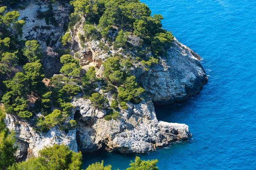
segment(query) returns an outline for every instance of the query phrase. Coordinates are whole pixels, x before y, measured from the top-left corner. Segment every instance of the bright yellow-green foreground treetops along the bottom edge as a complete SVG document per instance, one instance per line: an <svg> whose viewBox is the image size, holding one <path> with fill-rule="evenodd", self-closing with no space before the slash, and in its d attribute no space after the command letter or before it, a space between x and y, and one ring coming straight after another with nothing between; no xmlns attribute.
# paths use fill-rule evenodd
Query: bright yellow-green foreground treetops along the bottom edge
<svg viewBox="0 0 256 170"><path fill-rule="evenodd" d="M13 146L13 144L12 144ZM13 147L15 150L15 147ZM1 153L1 151L0 151ZM1 167L9 167L9 170L81 170L82 154L71 151L63 144L55 144L52 147L45 147L39 151L38 157L32 157L27 161L14 163L14 155L10 155L13 162L8 160L7 164L0 164ZM3 159L1 159L1 162ZM135 161L131 161L130 167L126 170L158 170L156 160L143 161L136 156ZM85 170L112 170L111 165L104 166L104 162L90 164Z"/></svg>

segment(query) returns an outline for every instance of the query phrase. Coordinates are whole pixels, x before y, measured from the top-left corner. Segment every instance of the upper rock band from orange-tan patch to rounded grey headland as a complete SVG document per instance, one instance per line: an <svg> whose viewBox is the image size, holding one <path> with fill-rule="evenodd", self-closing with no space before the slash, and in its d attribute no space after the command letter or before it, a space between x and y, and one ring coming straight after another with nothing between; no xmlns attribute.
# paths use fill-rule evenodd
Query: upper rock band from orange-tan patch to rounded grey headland
<svg viewBox="0 0 256 170"><path fill-rule="evenodd" d="M104 51L99 48L99 41L94 40L81 45L79 34L84 34L83 22L75 26L72 42L72 44L76 44L76 47L72 46L72 49L78 52L83 69L87 70L90 66L94 66L96 67L97 76L102 77L104 70L102 62L106 61L110 54L119 54L126 59L132 59L133 65L130 73L137 77L137 81L157 105L184 101L189 96L198 94L208 80L200 62L201 57L176 38L172 41L167 54L158 56L158 64L145 70L143 64L136 60L136 50L129 51L129 49L125 49L125 52L120 52L120 50ZM136 49L140 38L130 36L128 42ZM105 45L109 46L107 43ZM152 53L146 55L147 57L153 57Z"/></svg>

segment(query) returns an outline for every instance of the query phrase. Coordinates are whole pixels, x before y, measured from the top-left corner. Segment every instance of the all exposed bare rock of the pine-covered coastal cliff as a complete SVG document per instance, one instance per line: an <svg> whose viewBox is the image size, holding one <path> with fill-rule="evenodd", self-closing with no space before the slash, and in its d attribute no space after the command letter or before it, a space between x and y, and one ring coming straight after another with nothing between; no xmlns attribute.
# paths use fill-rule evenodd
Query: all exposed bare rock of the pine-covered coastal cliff
<svg viewBox="0 0 256 170"><path fill-rule="evenodd" d="M39 3L39 4L38 4ZM20 18L28 17L24 26L24 39L35 39L40 42L43 51L47 48L46 39L52 36L52 42L56 42L53 48L59 46L58 39L64 34L63 26L67 24L67 16L70 13L68 4L53 5L54 17L58 26L51 29L35 29L48 26L45 19L38 19L37 10L47 11L49 4L46 2L32 1L25 10L20 11ZM97 77L102 77L104 67L102 63L110 54L120 54L120 50L104 51L99 48L99 41L87 41L81 45L79 33L83 31L84 19L74 27L70 49L80 59L80 65L84 70L90 66L96 68ZM54 32L54 35L51 35ZM43 37L41 37L43 36ZM128 42L136 47L140 39L129 37ZM110 48L107 42L105 46ZM44 146L53 144L69 145L74 151L93 152L104 148L109 151L120 153L146 153L156 147L164 147L177 140L187 140L192 134L185 124L168 123L158 121L154 112L153 102L159 105L170 104L187 99L189 96L200 92L207 82L207 76L200 63L200 57L176 39L172 42L167 55L159 57L157 65L152 65L148 70L143 68L140 61L136 61L137 51L122 52L125 59L133 57L130 73L137 77L137 81L145 89L144 100L139 104L128 103L128 109L120 109L120 117L116 120L107 121L103 117L107 110L96 109L89 100L76 97L72 104L75 109L70 119L75 119L79 127L68 133L58 127L52 128L48 133L37 133L25 121L17 116L7 115L6 126L14 130L19 150L17 160L23 160L29 156L37 156L38 151ZM151 53L147 54L152 57ZM58 73L61 67L58 58L47 57L44 54L44 71L48 76ZM112 96L104 94L109 101Z"/></svg>

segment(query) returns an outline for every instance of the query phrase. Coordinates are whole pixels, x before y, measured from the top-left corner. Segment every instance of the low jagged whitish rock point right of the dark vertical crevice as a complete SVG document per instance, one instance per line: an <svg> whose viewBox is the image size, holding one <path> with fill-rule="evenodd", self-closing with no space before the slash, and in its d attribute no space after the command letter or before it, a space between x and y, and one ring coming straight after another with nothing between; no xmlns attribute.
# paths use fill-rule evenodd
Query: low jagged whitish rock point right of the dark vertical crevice
<svg viewBox="0 0 256 170"><path fill-rule="evenodd" d="M104 120L105 111L95 109L89 100L74 99L75 119L79 124L78 147L82 152L104 148L120 153L146 153L192 134L185 124L158 122L150 100L129 103L116 120Z"/></svg>

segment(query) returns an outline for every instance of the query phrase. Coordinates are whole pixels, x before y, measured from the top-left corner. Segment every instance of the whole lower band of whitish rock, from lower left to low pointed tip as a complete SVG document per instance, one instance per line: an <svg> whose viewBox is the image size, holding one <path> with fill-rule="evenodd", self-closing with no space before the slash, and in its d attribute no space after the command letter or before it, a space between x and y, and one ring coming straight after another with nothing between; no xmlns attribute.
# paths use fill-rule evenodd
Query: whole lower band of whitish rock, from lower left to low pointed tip
<svg viewBox="0 0 256 170"><path fill-rule="evenodd" d="M158 121L150 100L128 104L128 109L122 111L118 119L110 121L103 119L106 111L94 108L88 99L74 98L72 104L75 109L71 117L79 127L68 133L58 127L46 134L38 133L17 116L6 115L6 126L15 131L18 161L38 156L39 150L53 144L65 144L76 152L103 148L120 153L146 153L192 136L185 124Z"/></svg>

